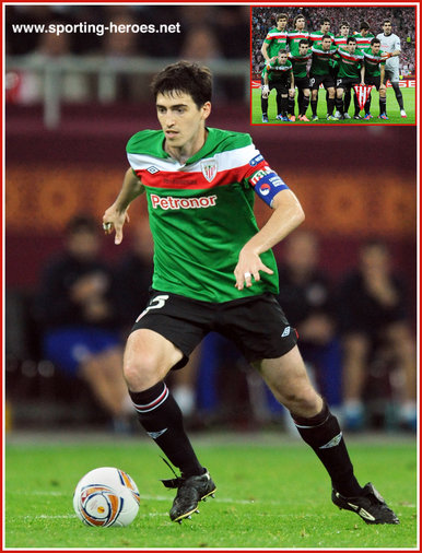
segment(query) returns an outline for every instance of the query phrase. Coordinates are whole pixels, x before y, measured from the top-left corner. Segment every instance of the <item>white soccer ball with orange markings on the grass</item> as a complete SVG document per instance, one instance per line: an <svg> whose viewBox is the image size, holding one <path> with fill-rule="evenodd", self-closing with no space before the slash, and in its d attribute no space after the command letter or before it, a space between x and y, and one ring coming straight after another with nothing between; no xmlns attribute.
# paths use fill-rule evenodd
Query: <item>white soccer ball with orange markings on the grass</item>
<svg viewBox="0 0 422 553"><path fill-rule="evenodd" d="M87 526L128 526L138 514L139 499L137 484L129 474L102 467L78 482L73 508Z"/></svg>

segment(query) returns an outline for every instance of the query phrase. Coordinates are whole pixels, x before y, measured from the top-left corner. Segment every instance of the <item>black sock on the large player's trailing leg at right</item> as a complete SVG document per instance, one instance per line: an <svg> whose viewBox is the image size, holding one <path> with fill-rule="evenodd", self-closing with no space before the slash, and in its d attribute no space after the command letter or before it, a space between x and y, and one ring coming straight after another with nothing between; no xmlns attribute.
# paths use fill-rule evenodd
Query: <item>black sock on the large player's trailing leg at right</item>
<svg viewBox="0 0 422 553"><path fill-rule="evenodd" d="M327 404L312 419L291 414L303 440L314 449L330 475L332 487L345 497L360 495L362 487L353 474L339 423Z"/></svg>

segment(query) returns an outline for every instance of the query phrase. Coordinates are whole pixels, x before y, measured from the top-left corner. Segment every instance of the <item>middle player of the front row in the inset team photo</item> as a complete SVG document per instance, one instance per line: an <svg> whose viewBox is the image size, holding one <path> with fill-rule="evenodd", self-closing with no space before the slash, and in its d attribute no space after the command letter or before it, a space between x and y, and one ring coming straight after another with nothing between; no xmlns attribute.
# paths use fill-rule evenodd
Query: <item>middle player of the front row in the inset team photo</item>
<svg viewBox="0 0 422 553"><path fill-rule="evenodd" d="M335 80L332 79L330 67L332 56L337 52L336 46L332 46L332 39L329 35L324 35L318 46L312 47L312 64L309 72L309 84L312 87L310 107L312 120L317 121L317 106L318 106L318 92L319 85L328 92L327 99L327 119L333 120L332 111L335 109Z"/></svg>

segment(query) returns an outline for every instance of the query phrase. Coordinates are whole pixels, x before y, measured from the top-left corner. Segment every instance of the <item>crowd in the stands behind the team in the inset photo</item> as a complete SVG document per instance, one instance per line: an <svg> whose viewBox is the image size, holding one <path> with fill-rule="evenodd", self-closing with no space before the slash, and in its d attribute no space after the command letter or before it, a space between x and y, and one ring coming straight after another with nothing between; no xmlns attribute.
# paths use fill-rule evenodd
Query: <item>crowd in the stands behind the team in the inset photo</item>
<svg viewBox="0 0 422 553"><path fill-rule="evenodd" d="M295 15L303 14L306 20L306 30L319 31L320 22L328 17L331 22L331 33L340 34L340 23L348 21L351 33L360 33L360 24L366 21L370 24L370 33L375 36L383 32L383 21L390 19L392 33L401 39L400 69L402 74L414 74L415 70L415 11L414 8L402 7L339 7L339 8L253 8L253 71L262 69L263 56L260 52L262 42L270 28L276 26L276 15L279 12L288 13L288 30L292 27Z"/></svg>

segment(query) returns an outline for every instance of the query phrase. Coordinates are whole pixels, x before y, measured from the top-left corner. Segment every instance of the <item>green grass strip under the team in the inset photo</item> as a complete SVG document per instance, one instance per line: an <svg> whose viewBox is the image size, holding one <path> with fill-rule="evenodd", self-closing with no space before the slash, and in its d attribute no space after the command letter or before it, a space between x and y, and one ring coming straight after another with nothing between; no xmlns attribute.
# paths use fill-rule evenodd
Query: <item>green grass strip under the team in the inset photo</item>
<svg viewBox="0 0 422 553"><path fill-rule="evenodd" d="M379 115L379 103L378 103L378 93L372 93L372 104L371 104L371 113L374 116L373 119L365 120L356 120L356 119L344 119L339 121L327 121L327 102L326 102L326 91L319 90L318 92L318 121L309 121L303 122L296 120L295 122L283 122L278 121L276 119L277 116L277 105L276 105L276 91L271 91L268 102L268 123L262 123L262 111L261 111L261 93L260 89L253 89L253 102L251 102L251 122L260 123L260 125L300 125L302 127L307 125L414 125L415 122L415 89L401 89L401 93L403 95L405 109L407 113L407 118L403 119L400 116L399 105L397 104L397 99L395 96L395 92L392 89L387 89L387 114L389 119L386 121L384 119L378 119ZM349 114L353 117L354 114L354 105L353 105L353 93L352 93L352 102L349 108ZM296 105L295 105L295 115L297 116L297 90L296 90ZM361 115L364 115L364 111L361 111ZM306 116L310 119L312 109L310 104L306 111Z"/></svg>

